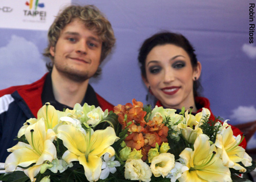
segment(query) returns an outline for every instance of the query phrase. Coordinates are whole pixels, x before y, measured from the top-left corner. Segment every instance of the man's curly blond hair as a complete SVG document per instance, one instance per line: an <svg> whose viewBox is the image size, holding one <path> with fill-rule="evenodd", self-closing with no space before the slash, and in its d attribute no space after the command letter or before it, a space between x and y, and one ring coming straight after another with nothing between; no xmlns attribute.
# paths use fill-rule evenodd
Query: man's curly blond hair
<svg viewBox="0 0 256 182"><path fill-rule="evenodd" d="M84 25L89 29L93 30L102 41L100 63L108 56L115 44L115 36L112 26L106 17L93 5L87 6L75 6L71 5L63 9L56 16L53 24L48 31L48 47L45 49L44 56L51 59L50 63L47 63L47 69L52 70L54 64L54 57L50 54L50 48L55 47L60 32L66 27L74 18L79 18ZM98 67L97 72L94 76L99 75L101 72Z"/></svg>

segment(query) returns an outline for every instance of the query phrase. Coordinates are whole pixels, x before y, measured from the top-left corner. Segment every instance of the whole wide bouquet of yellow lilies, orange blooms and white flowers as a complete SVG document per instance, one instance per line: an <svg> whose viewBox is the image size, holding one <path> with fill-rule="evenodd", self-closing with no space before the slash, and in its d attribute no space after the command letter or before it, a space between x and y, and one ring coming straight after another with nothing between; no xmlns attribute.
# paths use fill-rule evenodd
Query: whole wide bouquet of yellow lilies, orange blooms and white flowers
<svg viewBox="0 0 256 182"><path fill-rule="evenodd" d="M20 128L0 180L250 181L239 175L256 166L239 146L244 136L233 137L227 121L212 118L206 108L194 116L135 99L114 113L45 105Z"/></svg>

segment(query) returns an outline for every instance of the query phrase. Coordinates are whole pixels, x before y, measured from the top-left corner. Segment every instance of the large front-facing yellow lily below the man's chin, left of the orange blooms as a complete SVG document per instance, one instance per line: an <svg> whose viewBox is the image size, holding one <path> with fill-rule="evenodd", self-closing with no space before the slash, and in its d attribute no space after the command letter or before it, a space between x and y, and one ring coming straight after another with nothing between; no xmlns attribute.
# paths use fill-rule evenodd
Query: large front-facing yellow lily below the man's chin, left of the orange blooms
<svg viewBox="0 0 256 182"><path fill-rule="evenodd" d="M99 179L101 173L101 156L109 153L110 157L115 154L111 145L119 139L112 127L104 130L90 130L88 133L81 132L72 125L61 125L57 129L57 136L63 141L68 150L62 155L68 164L79 161L84 168L84 174L89 181Z"/></svg>

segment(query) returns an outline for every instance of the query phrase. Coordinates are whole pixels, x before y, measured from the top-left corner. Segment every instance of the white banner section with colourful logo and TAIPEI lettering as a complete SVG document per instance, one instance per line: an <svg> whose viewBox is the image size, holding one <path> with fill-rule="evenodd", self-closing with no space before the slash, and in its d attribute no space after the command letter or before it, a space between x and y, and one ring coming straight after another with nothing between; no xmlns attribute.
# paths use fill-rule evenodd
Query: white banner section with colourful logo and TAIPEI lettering
<svg viewBox="0 0 256 182"><path fill-rule="evenodd" d="M48 30L71 0L1 0L0 28Z"/></svg>

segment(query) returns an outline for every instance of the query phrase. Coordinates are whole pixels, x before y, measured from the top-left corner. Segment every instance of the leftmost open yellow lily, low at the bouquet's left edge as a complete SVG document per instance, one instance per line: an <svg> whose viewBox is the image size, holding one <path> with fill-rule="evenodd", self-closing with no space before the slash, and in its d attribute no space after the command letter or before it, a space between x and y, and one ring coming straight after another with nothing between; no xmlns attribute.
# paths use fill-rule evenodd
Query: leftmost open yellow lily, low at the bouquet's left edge
<svg viewBox="0 0 256 182"><path fill-rule="evenodd" d="M35 163L24 171L31 181L35 181L34 176L38 174L42 164L45 161L52 162L57 157L56 148L52 143L56 135L52 129L46 132L45 122L40 119L27 127L25 137L29 144L18 142L8 149L12 153L6 158L5 170L12 172L17 166L28 167Z"/></svg>

